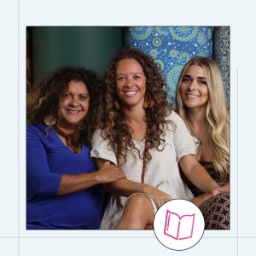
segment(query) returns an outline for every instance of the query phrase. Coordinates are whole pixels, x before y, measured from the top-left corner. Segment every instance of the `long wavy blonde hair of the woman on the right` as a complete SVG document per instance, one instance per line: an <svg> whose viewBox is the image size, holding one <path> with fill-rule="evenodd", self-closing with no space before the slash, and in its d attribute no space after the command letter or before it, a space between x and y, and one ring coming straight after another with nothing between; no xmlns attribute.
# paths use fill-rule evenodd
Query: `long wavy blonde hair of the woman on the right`
<svg viewBox="0 0 256 256"><path fill-rule="evenodd" d="M202 152L206 150L210 152L213 166L224 178L230 173L230 122L229 113L225 107L223 80L215 61L207 57L195 57L183 67L177 84L177 113L183 118L191 134L196 137L195 130L189 120L189 109L183 104L179 92L183 75L191 65L197 65L203 69L209 91L204 138L206 143L202 143L197 148L197 157L200 160Z"/></svg>

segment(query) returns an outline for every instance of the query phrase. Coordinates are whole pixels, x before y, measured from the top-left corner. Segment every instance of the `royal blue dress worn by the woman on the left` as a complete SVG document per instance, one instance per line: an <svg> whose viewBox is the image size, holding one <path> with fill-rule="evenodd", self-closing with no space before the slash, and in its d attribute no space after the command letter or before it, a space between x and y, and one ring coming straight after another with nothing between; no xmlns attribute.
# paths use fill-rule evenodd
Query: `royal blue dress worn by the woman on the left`
<svg viewBox="0 0 256 256"><path fill-rule="evenodd" d="M102 185L69 195L57 195L62 174L95 172L90 148L75 154L53 128L27 125L26 223L27 229L98 229L102 220Z"/></svg>

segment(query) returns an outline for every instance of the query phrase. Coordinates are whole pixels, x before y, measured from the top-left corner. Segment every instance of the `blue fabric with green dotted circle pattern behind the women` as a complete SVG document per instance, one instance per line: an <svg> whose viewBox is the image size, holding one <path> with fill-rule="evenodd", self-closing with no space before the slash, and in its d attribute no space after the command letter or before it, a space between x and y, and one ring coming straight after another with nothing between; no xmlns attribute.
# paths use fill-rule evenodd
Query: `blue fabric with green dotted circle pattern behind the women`
<svg viewBox="0 0 256 256"><path fill-rule="evenodd" d="M166 78L168 101L175 105L177 80L191 58L212 58L211 26L129 26L125 45L151 55Z"/></svg>

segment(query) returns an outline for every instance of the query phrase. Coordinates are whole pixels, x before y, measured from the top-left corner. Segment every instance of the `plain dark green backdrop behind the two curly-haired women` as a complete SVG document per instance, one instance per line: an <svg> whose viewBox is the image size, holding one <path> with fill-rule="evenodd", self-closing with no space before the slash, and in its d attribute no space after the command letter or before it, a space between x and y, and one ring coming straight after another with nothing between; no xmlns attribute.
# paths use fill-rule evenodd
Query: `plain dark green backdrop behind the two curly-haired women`
<svg viewBox="0 0 256 256"><path fill-rule="evenodd" d="M102 77L123 45L121 26L33 26L32 84L63 66L85 67Z"/></svg>

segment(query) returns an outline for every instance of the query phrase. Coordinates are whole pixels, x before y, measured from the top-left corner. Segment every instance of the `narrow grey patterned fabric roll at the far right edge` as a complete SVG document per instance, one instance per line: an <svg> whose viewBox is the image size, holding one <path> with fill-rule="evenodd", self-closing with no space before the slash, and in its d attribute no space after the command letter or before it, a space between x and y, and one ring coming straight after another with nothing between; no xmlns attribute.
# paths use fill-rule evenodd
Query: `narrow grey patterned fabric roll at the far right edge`
<svg viewBox="0 0 256 256"><path fill-rule="evenodd" d="M226 106L230 107L230 26L215 26L213 59L218 63L224 81Z"/></svg>

